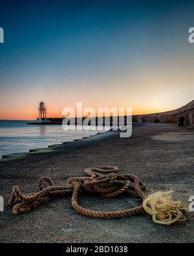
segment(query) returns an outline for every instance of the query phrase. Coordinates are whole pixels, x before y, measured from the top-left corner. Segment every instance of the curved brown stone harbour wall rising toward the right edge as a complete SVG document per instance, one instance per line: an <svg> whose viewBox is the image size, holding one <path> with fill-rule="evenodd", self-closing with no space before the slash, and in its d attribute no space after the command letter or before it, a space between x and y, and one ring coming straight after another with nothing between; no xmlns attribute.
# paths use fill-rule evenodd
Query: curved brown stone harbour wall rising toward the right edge
<svg viewBox="0 0 194 256"><path fill-rule="evenodd" d="M134 122L169 122L180 126L194 126L194 100L177 110L154 113L149 115L134 115Z"/></svg>

